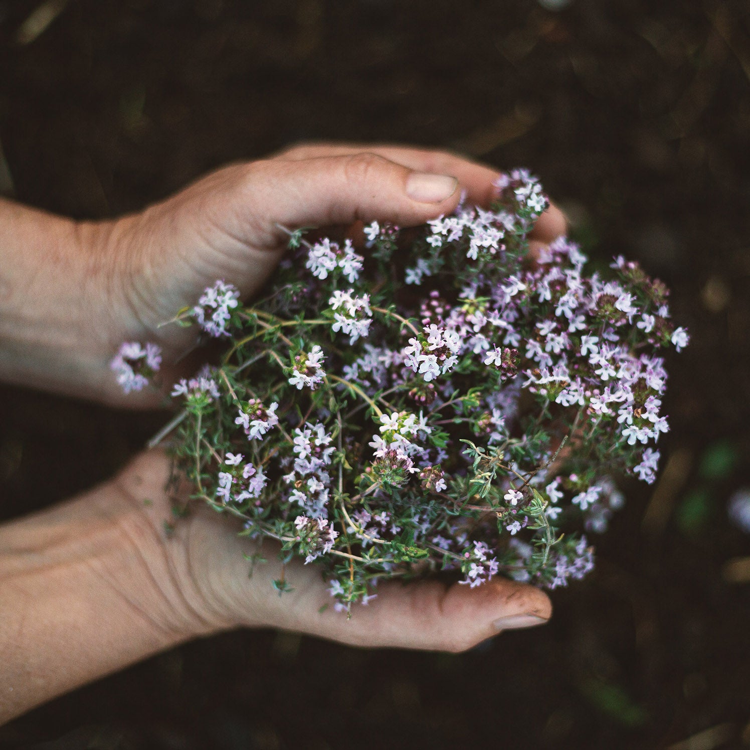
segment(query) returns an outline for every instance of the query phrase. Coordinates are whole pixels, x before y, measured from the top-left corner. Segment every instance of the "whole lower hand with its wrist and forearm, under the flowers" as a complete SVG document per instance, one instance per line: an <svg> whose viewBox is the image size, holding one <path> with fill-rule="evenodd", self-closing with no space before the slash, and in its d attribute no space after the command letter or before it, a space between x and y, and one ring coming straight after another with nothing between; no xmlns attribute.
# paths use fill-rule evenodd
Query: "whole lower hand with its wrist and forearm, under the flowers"
<svg viewBox="0 0 750 750"><path fill-rule="evenodd" d="M78 498L0 526L0 724L45 700L190 638L242 625L356 646L463 651L550 617L547 596L504 579L475 589L383 582L351 619L299 559L279 596L278 546L248 577L256 544L205 505L172 521L169 459L138 456Z"/></svg>

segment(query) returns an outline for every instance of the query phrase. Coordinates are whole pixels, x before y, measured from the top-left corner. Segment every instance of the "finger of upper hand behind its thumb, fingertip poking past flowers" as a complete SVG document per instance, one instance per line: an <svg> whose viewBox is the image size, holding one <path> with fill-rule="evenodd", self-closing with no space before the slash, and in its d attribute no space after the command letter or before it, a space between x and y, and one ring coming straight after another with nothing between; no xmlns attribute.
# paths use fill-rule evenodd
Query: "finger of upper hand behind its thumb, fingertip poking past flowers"
<svg viewBox="0 0 750 750"><path fill-rule="evenodd" d="M410 169L425 172L452 174L458 178L462 189L466 190L469 203L488 208L496 197L495 180L499 171L487 164L471 161L458 154L431 149L416 149L410 146L374 145L358 143L306 143L293 146L275 158L300 161L322 156L342 156L370 152L403 164ZM550 207L538 218L530 236L541 242L552 242L565 234L567 221L562 211L550 203Z"/></svg>

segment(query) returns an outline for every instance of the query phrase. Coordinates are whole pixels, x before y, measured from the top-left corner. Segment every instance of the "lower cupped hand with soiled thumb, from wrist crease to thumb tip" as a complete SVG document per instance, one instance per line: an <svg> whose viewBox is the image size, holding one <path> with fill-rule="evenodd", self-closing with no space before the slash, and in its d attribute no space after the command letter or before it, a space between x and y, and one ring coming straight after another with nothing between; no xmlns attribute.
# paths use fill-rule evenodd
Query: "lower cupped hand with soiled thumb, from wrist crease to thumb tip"
<svg viewBox="0 0 750 750"><path fill-rule="evenodd" d="M282 570L278 545L259 546L239 537L240 527L231 518L207 506L191 505L187 517L165 536L163 523L172 517L164 490L168 478L169 459L154 450L138 456L115 480L136 509L139 528L131 525L127 539L139 546L148 568L145 578L157 586L157 598L149 601L160 606L149 604L148 609L165 630L194 636L243 625L273 627L356 646L458 652L500 631L541 625L550 617L544 592L496 578L474 589L436 580L383 582L377 597L366 606L354 605L347 619L334 610L320 568L293 559ZM267 562L257 562L248 576L245 556L259 552ZM293 591L279 595L272 581L282 576Z"/></svg>

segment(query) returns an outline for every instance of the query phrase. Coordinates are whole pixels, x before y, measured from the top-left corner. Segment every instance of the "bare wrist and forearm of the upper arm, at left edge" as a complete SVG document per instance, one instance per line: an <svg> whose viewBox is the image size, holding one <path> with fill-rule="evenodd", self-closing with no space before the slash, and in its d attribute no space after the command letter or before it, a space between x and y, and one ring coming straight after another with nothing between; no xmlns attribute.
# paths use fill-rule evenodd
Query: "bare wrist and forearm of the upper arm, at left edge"
<svg viewBox="0 0 750 750"><path fill-rule="evenodd" d="M0 377L91 393L105 359L107 315L97 225L5 200L0 218Z"/></svg>

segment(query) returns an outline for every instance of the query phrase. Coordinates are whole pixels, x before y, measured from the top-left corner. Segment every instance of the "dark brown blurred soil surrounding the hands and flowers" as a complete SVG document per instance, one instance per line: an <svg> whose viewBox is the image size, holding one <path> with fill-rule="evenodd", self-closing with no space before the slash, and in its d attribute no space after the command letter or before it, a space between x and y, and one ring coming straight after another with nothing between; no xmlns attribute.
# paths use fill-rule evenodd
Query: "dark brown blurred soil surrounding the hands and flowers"
<svg viewBox="0 0 750 750"><path fill-rule="evenodd" d="M304 139L526 165L600 258L673 290L653 487L554 592L463 655L271 631L190 643L0 729L24 748L750 746L750 6L684 0L0 0L0 191L139 209ZM0 389L0 516L112 474L162 423Z"/></svg>

